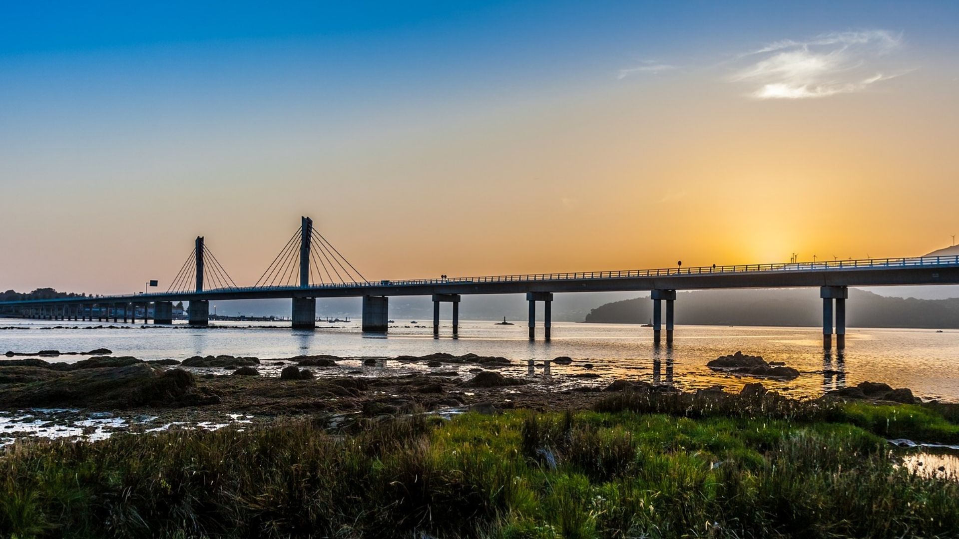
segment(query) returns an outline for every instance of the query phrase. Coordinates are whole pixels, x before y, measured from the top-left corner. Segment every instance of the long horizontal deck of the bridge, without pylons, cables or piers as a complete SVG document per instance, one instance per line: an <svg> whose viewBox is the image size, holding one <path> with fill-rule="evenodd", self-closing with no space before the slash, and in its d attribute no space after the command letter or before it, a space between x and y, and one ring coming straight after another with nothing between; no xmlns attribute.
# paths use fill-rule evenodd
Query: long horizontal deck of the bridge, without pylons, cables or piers
<svg viewBox="0 0 959 539"><path fill-rule="evenodd" d="M277 297L429 295L433 293L628 292L947 284L959 284L959 256L383 280L309 287L229 287L202 292L135 293L2 301L0 306Z"/></svg>

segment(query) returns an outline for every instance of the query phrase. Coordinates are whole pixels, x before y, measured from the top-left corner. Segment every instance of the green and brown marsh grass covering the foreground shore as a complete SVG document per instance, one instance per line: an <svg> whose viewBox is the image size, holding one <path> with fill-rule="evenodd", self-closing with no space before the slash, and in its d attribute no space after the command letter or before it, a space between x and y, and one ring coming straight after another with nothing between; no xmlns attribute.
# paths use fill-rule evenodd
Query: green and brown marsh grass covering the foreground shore
<svg viewBox="0 0 959 539"><path fill-rule="evenodd" d="M951 439L935 410L775 406L20 443L0 454L0 536L956 536L959 483L894 466L881 437Z"/></svg>

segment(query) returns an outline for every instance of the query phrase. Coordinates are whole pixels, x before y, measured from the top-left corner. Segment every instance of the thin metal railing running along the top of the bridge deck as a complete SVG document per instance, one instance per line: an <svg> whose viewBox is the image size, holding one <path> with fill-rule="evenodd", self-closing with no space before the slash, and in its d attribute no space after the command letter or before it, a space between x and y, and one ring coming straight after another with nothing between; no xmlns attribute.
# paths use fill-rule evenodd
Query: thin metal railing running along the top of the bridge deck
<svg viewBox="0 0 959 539"><path fill-rule="evenodd" d="M890 268L915 268L915 267L957 267L959 266L959 255L955 256L926 256L910 258L870 258L862 260L832 260L823 262L790 262L777 264L737 264L732 266L697 266L692 268L658 268L658 269L620 269L612 271L571 271L562 273L520 273L513 275L485 275L476 277L447 277L436 279L405 279L399 281L365 281L348 283L331 283L311 285L307 287L310 290L327 289L350 289L350 288L388 288L388 287L407 287L424 285L456 285L456 284L482 284L482 283L510 283L510 282L542 282L542 281L569 281L583 279L624 279L624 278L642 278L642 277L682 277L696 276L704 274L742 274L758 273L769 271L798 272L798 271L838 271L850 269L890 269ZM208 289L202 293L211 292L244 292L244 291L290 291L302 290L299 286L273 286L273 287L231 287ZM177 297L189 296L195 293L178 293ZM170 295L167 293L144 293L131 296L129 294L99 295L87 296L83 299L96 301L97 299L109 299L111 297L130 298L129 301L136 301L136 298L150 299L154 296ZM62 300L76 300L73 298L58 298ZM39 302L40 300L35 300ZM57 301L53 299L50 301Z"/></svg>

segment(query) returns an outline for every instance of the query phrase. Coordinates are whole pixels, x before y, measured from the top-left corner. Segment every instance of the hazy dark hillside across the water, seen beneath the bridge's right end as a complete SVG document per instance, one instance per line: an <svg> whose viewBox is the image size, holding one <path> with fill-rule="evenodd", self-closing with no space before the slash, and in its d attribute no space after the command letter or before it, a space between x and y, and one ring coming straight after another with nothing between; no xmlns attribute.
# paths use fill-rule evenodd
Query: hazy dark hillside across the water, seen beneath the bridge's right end
<svg viewBox="0 0 959 539"><path fill-rule="evenodd" d="M587 315L585 321L646 323L650 317L652 300L637 297L601 305ZM820 326L823 323L823 303L819 298L819 290L814 288L678 293L676 323ZM846 301L846 325L959 328L959 298L903 299L850 289L850 298Z"/></svg>

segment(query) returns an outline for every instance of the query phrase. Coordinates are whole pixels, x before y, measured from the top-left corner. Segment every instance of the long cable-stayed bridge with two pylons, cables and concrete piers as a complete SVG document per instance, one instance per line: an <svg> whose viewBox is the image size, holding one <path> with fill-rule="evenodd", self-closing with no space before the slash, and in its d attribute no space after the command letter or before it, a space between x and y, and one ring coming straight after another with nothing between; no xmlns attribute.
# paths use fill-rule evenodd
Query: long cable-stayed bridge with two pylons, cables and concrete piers
<svg viewBox="0 0 959 539"><path fill-rule="evenodd" d="M324 276L325 275L325 276ZM317 297L360 297L363 332L386 333L390 296L430 295L433 336L439 337L441 303L453 308L453 336L459 331L463 295L525 293L529 303L529 339L535 338L536 302L544 303L544 337L550 340L553 293L648 291L653 301L653 341L659 344L666 302L666 341L673 340L676 291L707 289L771 289L818 287L823 299L823 347L845 348L846 299L849 287L959 284L959 256L881 258L787 264L746 264L694 268L623 269L565 273L529 273L477 277L442 277L370 281L363 277L313 226L301 218L299 229L253 286L239 287L229 277L204 239L194 249L163 293L72 296L0 301L8 316L40 319L135 321L138 307L144 322L173 323L173 303L189 303L188 321L209 322L209 302L229 299L292 299L292 327L316 327Z"/></svg>

